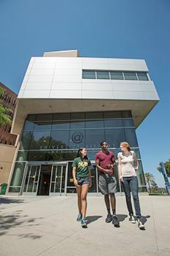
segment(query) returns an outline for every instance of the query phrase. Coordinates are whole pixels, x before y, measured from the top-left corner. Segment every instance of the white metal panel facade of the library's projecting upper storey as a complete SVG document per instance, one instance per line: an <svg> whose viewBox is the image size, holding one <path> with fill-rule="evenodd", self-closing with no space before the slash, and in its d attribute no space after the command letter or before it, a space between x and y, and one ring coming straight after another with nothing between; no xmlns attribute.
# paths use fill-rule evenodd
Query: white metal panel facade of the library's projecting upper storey
<svg viewBox="0 0 170 256"><path fill-rule="evenodd" d="M139 59L33 57L18 99L159 100L151 80L82 79L82 70L148 72Z"/></svg>

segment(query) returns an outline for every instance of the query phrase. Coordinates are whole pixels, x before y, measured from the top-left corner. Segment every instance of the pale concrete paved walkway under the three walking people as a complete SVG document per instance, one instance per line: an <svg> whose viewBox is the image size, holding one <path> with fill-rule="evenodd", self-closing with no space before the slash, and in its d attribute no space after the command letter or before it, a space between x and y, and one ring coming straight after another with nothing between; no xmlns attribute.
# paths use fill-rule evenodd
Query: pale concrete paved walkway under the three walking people
<svg viewBox="0 0 170 256"><path fill-rule="evenodd" d="M117 197L120 227L106 223L104 197L88 196L88 228L77 218L77 197L0 197L0 255L170 255L170 197L140 196L145 230L128 221Z"/></svg>

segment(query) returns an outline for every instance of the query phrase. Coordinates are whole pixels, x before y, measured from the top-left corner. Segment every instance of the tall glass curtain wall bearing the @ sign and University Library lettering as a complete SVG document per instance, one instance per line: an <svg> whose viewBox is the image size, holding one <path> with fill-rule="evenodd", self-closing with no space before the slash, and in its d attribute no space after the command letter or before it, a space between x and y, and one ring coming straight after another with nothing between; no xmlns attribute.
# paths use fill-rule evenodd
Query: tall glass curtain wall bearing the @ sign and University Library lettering
<svg viewBox="0 0 170 256"><path fill-rule="evenodd" d="M73 161L80 147L87 148L88 157L94 160L102 140L107 141L115 159L120 142L128 141L139 160L139 191L146 191L131 111L109 111L28 115L9 192L20 192L26 162Z"/></svg>

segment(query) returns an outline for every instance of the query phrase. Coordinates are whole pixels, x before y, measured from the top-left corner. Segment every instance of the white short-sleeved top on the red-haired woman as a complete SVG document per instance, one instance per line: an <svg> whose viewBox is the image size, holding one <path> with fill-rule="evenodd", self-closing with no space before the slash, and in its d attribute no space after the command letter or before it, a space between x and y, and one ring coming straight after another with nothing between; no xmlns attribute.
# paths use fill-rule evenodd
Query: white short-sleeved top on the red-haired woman
<svg viewBox="0 0 170 256"><path fill-rule="evenodd" d="M117 154L117 158L120 157L121 159L123 177L136 176L136 171L134 170L134 157L136 157L136 154L134 151L129 151L129 153L128 157L125 157L123 152Z"/></svg>

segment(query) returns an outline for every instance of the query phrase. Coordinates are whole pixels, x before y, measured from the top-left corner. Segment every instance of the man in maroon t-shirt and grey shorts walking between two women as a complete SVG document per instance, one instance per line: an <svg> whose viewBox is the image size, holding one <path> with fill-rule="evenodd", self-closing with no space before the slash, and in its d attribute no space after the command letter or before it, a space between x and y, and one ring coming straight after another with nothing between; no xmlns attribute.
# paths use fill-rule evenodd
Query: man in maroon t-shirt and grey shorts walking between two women
<svg viewBox="0 0 170 256"><path fill-rule="evenodd" d="M117 192L117 181L113 168L115 167L115 156L111 151L108 151L108 144L106 141L101 141L101 151L96 154L96 167L99 170L98 187L104 195L104 201L107 206L106 222L111 222L115 227L119 227L119 221L115 214L115 192ZM110 213L110 203L112 206L112 213Z"/></svg>

